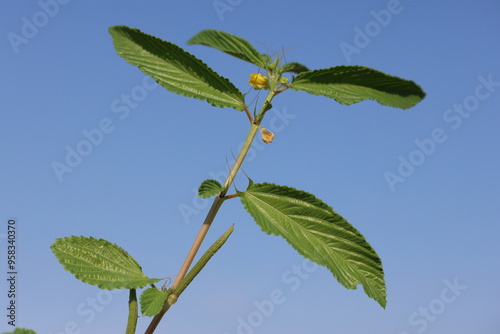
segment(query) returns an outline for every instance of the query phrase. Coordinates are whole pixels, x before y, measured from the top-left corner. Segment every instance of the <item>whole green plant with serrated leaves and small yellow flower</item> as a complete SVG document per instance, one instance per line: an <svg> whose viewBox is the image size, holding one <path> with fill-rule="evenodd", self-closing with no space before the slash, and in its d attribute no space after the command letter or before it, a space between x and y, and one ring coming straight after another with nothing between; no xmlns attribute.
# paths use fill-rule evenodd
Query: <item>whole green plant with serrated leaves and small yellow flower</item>
<svg viewBox="0 0 500 334"><path fill-rule="evenodd" d="M188 44L213 47L262 69L263 73L250 75L249 83L267 95L260 110L251 112L245 94L177 45L125 26L111 27L109 32L118 54L167 90L205 100L216 107L236 109L249 121L246 140L226 181L220 184L205 180L199 187L200 197L214 197L214 200L170 288L157 288L155 283L162 279L147 277L126 251L106 240L67 237L57 239L51 246L59 262L79 280L101 289L130 290L127 333L135 332L139 305L143 315L153 317L146 330L146 333L153 333L163 315L224 245L234 227L230 227L192 266L217 212L226 200L234 198L240 199L262 231L283 237L301 255L326 266L346 288L355 289L361 284L370 298L385 307L386 287L380 258L361 233L330 206L305 191L272 183L254 183L250 179L245 190L237 190L234 194L228 192L259 130L264 142L272 142L274 135L261 124L277 95L291 89L326 96L341 104L371 99L382 105L407 109L425 96L418 85L363 66L311 71L302 64L282 64L278 56L261 54L240 37L216 30L198 33ZM142 292L138 303L136 289L148 285L150 287Z"/></svg>

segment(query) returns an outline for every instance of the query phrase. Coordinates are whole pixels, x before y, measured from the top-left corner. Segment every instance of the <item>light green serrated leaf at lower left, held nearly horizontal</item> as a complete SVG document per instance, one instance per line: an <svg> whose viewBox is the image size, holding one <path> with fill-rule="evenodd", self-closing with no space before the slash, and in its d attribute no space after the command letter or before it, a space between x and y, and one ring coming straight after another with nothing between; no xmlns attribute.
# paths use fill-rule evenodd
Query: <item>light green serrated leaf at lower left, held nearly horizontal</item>
<svg viewBox="0 0 500 334"><path fill-rule="evenodd" d="M160 281L144 275L134 258L104 239L67 237L56 239L50 248L64 269L101 289L137 289Z"/></svg>

